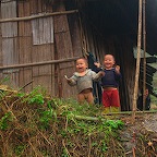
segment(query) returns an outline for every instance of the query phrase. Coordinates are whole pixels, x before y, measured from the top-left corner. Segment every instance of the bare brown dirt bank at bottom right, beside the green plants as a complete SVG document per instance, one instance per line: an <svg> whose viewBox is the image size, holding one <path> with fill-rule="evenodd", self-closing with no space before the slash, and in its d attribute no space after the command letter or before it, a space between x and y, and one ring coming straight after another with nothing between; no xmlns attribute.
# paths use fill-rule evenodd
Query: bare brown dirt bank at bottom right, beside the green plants
<svg viewBox="0 0 157 157"><path fill-rule="evenodd" d="M121 132L122 146L126 157L157 157L157 113L136 114L121 118L125 129Z"/></svg>

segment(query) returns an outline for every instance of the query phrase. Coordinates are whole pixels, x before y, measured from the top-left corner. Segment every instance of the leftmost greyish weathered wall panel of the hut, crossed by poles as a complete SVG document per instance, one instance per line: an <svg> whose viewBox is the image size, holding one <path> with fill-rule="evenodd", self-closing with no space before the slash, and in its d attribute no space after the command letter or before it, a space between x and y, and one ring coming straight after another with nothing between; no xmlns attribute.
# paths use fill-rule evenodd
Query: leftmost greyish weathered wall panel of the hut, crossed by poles
<svg viewBox="0 0 157 157"><path fill-rule="evenodd" d="M16 1L10 1L1 3L1 17L16 17ZM3 23L1 24L2 29L2 40L1 40L1 51L2 51L2 64L17 64L17 23ZM11 37L11 38L10 38ZM9 85L17 86L19 82L19 70L4 70L2 71L3 76L10 76Z"/></svg>

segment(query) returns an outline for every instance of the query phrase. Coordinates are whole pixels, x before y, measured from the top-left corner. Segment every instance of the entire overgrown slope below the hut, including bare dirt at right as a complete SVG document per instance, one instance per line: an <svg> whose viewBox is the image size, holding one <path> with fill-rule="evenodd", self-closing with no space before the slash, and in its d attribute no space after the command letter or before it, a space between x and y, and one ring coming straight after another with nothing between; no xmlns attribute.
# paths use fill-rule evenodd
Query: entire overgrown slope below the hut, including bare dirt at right
<svg viewBox="0 0 157 157"><path fill-rule="evenodd" d="M101 106L46 96L0 92L1 157L157 156L157 113L101 114Z"/></svg>

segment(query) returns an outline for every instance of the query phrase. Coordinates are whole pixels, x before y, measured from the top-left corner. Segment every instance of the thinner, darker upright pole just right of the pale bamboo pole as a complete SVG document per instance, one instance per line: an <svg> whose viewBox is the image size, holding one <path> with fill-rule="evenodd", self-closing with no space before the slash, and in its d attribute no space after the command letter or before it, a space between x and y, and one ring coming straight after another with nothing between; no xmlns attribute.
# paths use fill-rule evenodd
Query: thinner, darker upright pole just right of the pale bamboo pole
<svg viewBox="0 0 157 157"><path fill-rule="evenodd" d="M143 110L145 110L145 90L146 90L146 26L145 26L145 0L143 0L143 47L144 47L144 56L143 56Z"/></svg>

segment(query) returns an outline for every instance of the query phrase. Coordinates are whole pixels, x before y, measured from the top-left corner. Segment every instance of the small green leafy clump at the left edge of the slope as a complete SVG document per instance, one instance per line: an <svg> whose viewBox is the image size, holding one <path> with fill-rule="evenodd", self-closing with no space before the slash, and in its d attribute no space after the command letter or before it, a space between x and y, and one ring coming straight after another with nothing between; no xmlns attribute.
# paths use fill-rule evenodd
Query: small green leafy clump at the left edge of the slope
<svg viewBox="0 0 157 157"><path fill-rule="evenodd" d="M9 128L9 122L12 121L11 112L4 113L4 116L0 119L0 130L7 130Z"/></svg>

